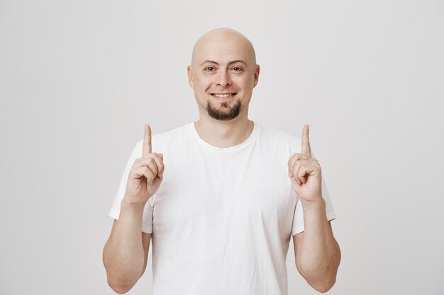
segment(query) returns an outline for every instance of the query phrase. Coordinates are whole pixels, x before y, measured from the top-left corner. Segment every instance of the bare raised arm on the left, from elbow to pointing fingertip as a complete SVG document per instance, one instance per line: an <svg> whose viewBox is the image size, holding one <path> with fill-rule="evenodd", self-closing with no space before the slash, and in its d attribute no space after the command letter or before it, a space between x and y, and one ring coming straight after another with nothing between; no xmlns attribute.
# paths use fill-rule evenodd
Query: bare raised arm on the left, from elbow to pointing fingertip
<svg viewBox="0 0 444 295"><path fill-rule="evenodd" d="M142 157L134 161L128 175L118 220L104 246L103 260L109 286L126 293L145 272L150 233L142 232L143 209L163 179L163 155L151 151L151 129L145 125Z"/></svg>

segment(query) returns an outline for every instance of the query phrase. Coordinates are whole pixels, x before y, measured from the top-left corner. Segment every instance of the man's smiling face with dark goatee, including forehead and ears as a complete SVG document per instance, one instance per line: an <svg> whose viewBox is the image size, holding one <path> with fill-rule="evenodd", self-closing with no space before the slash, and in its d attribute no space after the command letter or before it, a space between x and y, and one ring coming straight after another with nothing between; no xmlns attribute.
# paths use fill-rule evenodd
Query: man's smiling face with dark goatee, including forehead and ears
<svg viewBox="0 0 444 295"><path fill-rule="evenodd" d="M234 33L216 33L198 41L188 67L199 110L216 120L232 120L248 108L258 76L252 47Z"/></svg>

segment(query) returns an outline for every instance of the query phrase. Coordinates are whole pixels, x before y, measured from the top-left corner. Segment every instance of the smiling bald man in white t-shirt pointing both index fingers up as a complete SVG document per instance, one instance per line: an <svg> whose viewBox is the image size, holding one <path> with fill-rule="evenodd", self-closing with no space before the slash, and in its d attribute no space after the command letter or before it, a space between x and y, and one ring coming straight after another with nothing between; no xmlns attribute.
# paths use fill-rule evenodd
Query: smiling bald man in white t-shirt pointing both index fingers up
<svg viewBox="0 0 444 295"><path fill-rule="evenodd" d="M260 66L235 30L200 37L187 70L199 120L160 134L145 125L109 212L110 287L135 285L152 241L154 295L287 295L293 238L297 270L328 291L340 249L309 126L299 138L248 119Z"/></svg>

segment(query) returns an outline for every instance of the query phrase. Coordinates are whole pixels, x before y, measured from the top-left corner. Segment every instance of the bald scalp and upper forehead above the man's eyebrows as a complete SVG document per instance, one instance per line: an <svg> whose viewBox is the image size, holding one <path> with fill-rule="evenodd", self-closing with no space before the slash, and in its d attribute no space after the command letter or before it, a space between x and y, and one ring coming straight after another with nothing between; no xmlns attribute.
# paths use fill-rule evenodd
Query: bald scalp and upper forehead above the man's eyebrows
<svg viewBox="0 0 444 295"><path fill-rule="evenodd" d="M247 37L231 28L217 28L202 35L193 48L192 66L198 66L206 59L220 58L221 54L240 54L256 65L255 49Z"/></svg>

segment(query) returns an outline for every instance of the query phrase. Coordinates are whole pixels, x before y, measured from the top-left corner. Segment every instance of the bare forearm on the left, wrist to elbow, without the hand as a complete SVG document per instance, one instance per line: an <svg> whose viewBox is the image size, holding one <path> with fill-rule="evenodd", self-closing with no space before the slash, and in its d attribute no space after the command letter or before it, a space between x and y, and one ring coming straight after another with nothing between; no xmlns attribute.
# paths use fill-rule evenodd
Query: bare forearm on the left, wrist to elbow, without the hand
<svg viewBox="0 0 444 295"><path fill-rule="evenodd" d="M131 289L143 273L142 216L143 206L128 204L123 198L118 222L104 247L106 274L115 291Z"/></svg>

